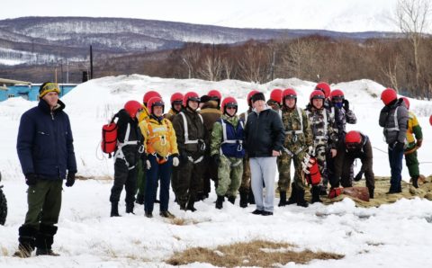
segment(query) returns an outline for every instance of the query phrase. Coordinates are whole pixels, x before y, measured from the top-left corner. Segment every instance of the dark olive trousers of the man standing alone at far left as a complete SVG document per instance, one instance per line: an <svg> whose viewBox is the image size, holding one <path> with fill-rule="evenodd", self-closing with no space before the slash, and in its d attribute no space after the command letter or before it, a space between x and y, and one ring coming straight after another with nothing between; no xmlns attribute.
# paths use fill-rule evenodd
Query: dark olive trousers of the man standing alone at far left
<svg viewBox="0 0 432 268"><path fill-rule="evenodd" d="M24 226L39 229L40 224L54 226L58 223L61 208L63 180L39 180L27 190L28 210Z"/></svg>

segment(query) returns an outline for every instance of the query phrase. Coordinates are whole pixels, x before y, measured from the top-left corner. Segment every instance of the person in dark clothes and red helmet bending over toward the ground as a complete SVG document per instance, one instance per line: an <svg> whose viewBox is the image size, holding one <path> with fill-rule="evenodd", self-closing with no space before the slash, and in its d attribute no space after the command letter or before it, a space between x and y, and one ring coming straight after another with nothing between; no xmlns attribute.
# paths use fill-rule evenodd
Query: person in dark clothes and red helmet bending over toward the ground
<svg viewBox="0 0 432 268"><path fill-rule="evenodd" d="M350 169L356 158L360 158L362 167L355 180L360 180L361 175L365 174L369 198L374 198L375 177L371 141L365 134L355 130L349 131L344 142L339 143L335 159L335 179L330 181L331 188L338 188L339 184L343 187L353 186Z"/></svg>

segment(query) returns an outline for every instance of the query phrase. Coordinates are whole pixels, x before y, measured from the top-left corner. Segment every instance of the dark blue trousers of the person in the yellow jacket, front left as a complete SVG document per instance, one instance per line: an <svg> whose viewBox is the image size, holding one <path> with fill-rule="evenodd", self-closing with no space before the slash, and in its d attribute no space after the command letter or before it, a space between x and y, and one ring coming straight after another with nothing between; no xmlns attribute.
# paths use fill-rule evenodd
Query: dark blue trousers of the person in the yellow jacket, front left
<svg viewBox="0 0 432 268"><path fill-rule="evenodd" d="M157 163L157 157L149 155L150 169L146 174L146 194L144 199L144 210L152 212L157 193L157 181L160 180L159 200L160 211L168 210L169 183L173 166L173 157L169 156L164 164Z"/></svg>

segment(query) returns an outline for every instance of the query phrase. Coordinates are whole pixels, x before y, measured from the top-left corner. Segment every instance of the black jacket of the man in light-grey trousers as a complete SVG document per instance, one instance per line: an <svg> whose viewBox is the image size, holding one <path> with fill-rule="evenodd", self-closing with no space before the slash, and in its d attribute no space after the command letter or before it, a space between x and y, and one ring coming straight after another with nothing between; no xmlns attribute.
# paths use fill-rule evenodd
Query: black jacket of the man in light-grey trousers
<svg viewBox="0 0 432 268"><path fill-rule="evenodd" d="M247 156L268 157L272 151L282 151L285 132L279 114L268 108L247 116L245 127Z"/></svg>

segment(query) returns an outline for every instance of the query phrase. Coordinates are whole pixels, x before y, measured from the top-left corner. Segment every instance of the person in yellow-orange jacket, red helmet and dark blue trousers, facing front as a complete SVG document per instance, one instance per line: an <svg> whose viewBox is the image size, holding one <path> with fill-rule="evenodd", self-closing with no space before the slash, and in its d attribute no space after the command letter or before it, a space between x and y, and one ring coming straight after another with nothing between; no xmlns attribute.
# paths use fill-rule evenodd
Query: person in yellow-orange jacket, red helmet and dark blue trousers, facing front
<svg viewBox="0 0 432 268"><path fill-rule="evenodd" d="M148 169L144 210L146 217L153 217L157 181L160 180L159 215L173 219L174 215L168 211L169 183L172 166L177 166L179 160L175 131L171 121L164 119L164 106L161 98L151 98L147 104L149 117L139 123L139 129L145 140Z"/></svg>

